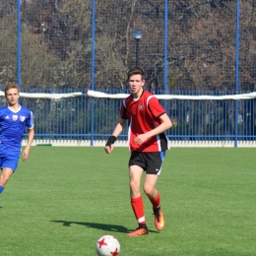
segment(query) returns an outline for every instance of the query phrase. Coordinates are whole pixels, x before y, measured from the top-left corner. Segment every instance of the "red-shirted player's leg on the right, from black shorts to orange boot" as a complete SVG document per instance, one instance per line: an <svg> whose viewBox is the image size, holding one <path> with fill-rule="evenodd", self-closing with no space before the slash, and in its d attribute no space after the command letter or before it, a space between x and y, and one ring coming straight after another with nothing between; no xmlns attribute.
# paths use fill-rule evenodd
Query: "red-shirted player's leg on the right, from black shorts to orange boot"
<svg viewBox="0 0 256 256"><path fill-rule="evenodd" d="M165 152L146 154L148 167L144 181L144 192L153 205L155 224L158 230L161 230L165 224L162 211L160 209L160 193L156 189L164 156Z"/></svg>

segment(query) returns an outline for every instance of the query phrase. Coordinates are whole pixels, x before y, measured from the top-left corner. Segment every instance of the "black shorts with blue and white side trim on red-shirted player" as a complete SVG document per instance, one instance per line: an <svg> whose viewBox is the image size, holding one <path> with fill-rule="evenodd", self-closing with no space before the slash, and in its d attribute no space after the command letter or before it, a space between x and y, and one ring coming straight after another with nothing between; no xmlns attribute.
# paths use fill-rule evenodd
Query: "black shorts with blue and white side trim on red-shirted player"
<svg viewBox="0 0 256 256"><path fill-rule="evenodd" d="M162 161L165 157L165 151L162 152L132 152L129 160L131 165L142 167L148 174L160 175Z"/></svg>

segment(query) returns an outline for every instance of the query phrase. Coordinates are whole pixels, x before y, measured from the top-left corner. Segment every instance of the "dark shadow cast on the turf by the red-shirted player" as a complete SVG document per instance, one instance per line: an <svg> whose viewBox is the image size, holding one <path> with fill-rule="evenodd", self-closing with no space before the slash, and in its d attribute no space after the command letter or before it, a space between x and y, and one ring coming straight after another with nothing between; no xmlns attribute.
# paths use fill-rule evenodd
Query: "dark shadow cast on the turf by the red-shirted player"
<svg viewBox="0 0 256 256"><path fill-rule="evenodd" d="M95 223L81 223L81 222L67 222L67 221L50 221L51 223L57 223L57 224L62 224L64 226L71 226L71 224L82 224L86 225L88 227L96 228L96 229L101 229L105 231L114 231L114 232L121 232L121 233L127 233L129 230L127 227L123 225L118 225L118 224L95 224ZM149 230L150 232L158 232L155 230Z"/></svg>

